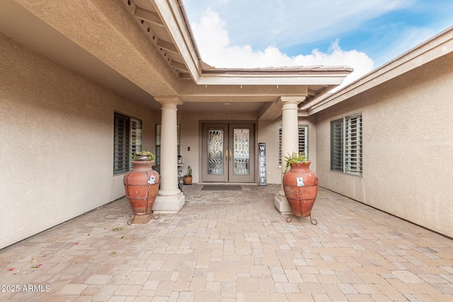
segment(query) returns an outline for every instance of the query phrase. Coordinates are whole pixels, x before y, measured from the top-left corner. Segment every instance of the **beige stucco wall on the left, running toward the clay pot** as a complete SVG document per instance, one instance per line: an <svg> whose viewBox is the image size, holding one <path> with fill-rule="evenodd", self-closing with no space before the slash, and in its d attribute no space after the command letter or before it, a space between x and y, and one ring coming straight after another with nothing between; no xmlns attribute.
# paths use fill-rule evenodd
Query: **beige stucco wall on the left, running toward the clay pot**
<svg viewBox="0 0 453 302"><path fill-rule="evenodd" d="M0 34L0 248L124 196L113 176L113 112L154 117Z"/></svg>

